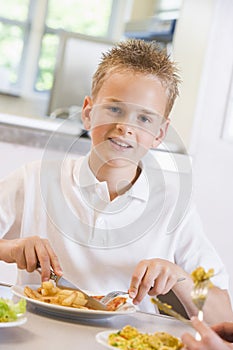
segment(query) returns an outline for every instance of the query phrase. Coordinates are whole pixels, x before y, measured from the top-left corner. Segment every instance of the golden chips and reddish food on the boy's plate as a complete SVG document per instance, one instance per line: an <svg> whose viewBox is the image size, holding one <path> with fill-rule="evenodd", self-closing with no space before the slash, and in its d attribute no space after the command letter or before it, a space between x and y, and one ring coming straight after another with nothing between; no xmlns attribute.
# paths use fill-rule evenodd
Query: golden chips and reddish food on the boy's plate
<svg viewBox="0 0 233 350"><path fill-rule="evenodd" d="M87 300L85 295L77 290L61 289L52 281L42 282L41 286L36 290L26 286L24 294L31 299L39 300L49 304L60 306L69 306L78 309L90 309L86 306ZM101 299L100 296L93 296L95 299ZM117 297L113 299L107 306L107 311L115 311L121 305L126 303L126 298Z"/></svg>

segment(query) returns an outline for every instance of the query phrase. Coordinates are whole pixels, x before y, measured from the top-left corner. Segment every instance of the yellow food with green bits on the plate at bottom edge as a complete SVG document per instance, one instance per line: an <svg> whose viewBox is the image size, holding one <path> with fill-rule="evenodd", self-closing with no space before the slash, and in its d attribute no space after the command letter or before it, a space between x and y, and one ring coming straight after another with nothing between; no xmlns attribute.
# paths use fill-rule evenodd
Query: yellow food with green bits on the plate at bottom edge
<svg viewBox="0 0 233 350"><path fill-rule="evenodd" d="M182 342L169 333L141 333L129 325L109 334L108 344L123 350L179 350L183 347Z"/></svg>

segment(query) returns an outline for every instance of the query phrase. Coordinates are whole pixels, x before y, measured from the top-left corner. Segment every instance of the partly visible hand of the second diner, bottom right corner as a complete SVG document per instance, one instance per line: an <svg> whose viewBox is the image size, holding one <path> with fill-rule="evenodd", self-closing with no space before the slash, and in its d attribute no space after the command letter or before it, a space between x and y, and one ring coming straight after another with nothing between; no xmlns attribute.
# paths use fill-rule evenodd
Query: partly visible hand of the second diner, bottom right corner
<svg viewBox="0 0 233 350"><path fill-rule="evenodd" d="M200 333L201 340L196 340L191 334L185 333L182 335L182 342L185 344L185 349L189 350L229 350L233 349L233 344L222 340L210 327L198 320L197 317L192 318L194 328ZM233 328L233 323L230 324ZM216 327L222 329L223 324ZM214 328L214 327L213 327ZM232 332L232 331L231 331Z"/></svg>

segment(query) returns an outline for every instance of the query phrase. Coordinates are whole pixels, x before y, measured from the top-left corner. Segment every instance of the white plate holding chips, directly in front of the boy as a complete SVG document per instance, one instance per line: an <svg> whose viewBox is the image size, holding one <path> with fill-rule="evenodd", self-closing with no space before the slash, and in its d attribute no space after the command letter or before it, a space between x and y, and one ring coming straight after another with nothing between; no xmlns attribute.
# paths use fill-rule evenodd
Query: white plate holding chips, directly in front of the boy
<svg viewBox="0 0 233 350"><path fill-rule="evenodd" d="M102 318L110 318L119 315L131 314L136 311L136 308L130 304L126 303L122 307L120 307L117 311L102 311L102 310L88 310L88 309L78 309L67 306L60 306L55 304L44 303L43 301L35 300L28 298L24 295L24 287L25 286L13 286L11 288L12 293L17 295L20 298L24 298L27 302L33 304L34 307L41 309L46 313L55 314L61 317L71 317L71 318L88 318L88 319L102 319ZM28 285L31 289L37 289L39 287L38 284Z"/></svg>

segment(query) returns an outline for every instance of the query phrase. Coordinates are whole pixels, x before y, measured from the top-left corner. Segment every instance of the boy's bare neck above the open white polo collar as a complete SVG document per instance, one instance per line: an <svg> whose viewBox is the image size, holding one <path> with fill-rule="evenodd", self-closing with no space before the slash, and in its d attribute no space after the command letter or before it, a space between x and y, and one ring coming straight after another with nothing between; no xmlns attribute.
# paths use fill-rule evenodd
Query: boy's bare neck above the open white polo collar
<svg viewBox="0 0 233 350"><path fill-rule="evenodd" d="M135 164L128 167L114 167L108 163L97 164L92 157L89 158L89 166L98 181L106 181L111 201L124 194L138 179L141 168Z"/></svg>

